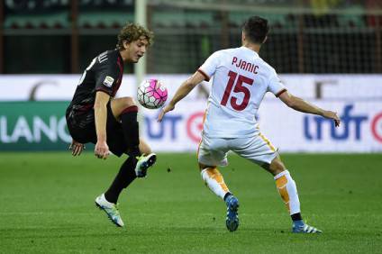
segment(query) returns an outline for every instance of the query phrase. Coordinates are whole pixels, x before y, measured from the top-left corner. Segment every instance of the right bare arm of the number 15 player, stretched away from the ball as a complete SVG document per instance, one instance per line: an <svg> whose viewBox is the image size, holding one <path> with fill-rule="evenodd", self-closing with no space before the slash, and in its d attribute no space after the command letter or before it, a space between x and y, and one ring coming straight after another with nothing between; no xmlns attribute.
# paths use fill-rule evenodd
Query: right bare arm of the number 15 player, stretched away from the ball
<svg viewBox="0 0 382 254"><path fill-rule="evenodd" d="M332 119L336 127L340 126L341 120L335 112L323 110L314 104L306 102L302 98L289 94L288 91L282 93L278 97L288 107L293 108L296 111L321 115L325 118Z"/></svg>

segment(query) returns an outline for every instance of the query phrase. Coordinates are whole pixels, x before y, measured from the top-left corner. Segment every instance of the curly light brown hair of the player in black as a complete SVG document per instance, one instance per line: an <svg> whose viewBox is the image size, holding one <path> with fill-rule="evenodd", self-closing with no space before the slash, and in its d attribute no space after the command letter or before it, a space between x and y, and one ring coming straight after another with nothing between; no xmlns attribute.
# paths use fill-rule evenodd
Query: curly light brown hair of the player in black
<svg viewBox="0 0 382 254"><path fill-rule="evenodd" d="M136 23L127 23L118 34L117 49L123 50L123 41L130 43L144 36L149 41L149 46L154 42L154 33Z"/></svg>

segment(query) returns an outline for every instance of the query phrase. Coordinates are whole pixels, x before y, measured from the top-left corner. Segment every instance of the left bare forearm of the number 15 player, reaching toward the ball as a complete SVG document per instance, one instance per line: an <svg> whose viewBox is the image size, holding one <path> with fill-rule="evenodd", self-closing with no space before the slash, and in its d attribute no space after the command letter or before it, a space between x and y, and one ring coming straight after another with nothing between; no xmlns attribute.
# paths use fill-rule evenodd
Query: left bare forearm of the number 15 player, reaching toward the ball
<svg viewBox="0 0 382 254"><path fill-rule="evenodd" d="M174 110L175 104L177 104L181 99L186 97L200 82L205 80L205 76L203 76L200 72L196 71L193 76L186 79L185 82L182 83L179 88L177 88L177 92L175 93L174 97L171 99L169 104L167 104L163 109L160 111L158 116L158 122L161 122L163 117L166 113L169 111Z"/></svg>

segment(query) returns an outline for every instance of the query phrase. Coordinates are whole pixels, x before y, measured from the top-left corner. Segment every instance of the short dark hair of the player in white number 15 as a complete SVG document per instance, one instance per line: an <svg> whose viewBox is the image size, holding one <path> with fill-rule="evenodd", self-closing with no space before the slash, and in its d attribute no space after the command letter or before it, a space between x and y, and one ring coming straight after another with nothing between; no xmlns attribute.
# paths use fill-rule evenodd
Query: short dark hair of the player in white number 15
<svg viewBox="0 0 382 254"><path fill-rule="evenodd" d="M242 26L246 39L253 43L262 43L269 32L268 20L251 16Z"/></svg>

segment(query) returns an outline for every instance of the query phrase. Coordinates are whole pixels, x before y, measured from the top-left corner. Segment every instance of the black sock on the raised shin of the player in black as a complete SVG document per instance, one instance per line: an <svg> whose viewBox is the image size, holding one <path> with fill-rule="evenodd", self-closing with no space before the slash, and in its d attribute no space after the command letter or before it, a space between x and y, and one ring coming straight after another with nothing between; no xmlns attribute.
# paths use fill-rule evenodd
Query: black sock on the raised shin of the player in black
<svg viewBox="0 0 382 254"><path fill-rule="evenodd" d="M129 155L136 157L140 156L140 130L137 121L138 107L133 105L127 107L121 113L121 122L123 125L124 139L128 145Z"/></svg>

